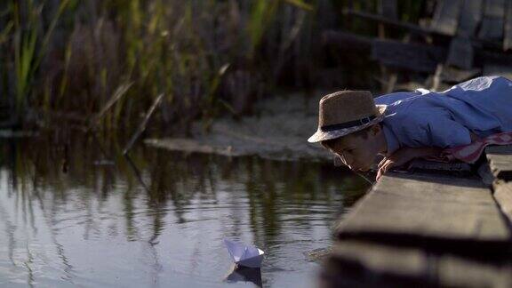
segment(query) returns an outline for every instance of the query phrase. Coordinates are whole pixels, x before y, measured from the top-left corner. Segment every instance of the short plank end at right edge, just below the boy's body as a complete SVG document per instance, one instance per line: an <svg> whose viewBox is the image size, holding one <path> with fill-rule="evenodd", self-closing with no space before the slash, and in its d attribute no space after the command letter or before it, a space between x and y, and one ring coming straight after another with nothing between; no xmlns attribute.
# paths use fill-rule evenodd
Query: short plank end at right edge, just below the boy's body
<svg viewBox="0 0 512 288"><path fill-rule="evenodd" d="M512 180L512 145L490 146L485 155L492 175L498 180Z"/></svg>

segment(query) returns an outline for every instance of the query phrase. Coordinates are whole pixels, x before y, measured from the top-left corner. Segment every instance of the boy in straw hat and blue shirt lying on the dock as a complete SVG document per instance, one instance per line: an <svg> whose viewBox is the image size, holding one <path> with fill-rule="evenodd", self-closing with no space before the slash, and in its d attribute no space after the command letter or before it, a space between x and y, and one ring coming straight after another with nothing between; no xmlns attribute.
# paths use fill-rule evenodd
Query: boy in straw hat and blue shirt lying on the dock
<svg viewBox="0 0 512 288"><path fill-rule="evenodd" d="M366 91L340 91L319 106L318 129L308 141L321 142L355 171L369 170L377 155L384 156L377 179L414 158L512 132L512 81L500 76L444 92L419 89L375 99Z"/></svg>

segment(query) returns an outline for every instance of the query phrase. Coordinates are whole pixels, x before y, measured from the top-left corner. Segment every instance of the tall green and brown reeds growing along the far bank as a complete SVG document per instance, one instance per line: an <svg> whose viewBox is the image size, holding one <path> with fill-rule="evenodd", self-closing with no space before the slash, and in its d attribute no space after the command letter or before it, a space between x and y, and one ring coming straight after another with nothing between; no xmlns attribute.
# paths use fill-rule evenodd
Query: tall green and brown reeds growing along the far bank
<svg viewBox="0 0 512 288"><path fill-rule="evenodd" d="M109 130L138 124L164 93L155 123L186 131L197 118L243 113L261 87L279 79L303 82L315 67L322 29L340 18L343 4L5 0L0 102L20 118L35 112L46 121L83 119ZM106 105L108 113L97 117Z"/></svg>

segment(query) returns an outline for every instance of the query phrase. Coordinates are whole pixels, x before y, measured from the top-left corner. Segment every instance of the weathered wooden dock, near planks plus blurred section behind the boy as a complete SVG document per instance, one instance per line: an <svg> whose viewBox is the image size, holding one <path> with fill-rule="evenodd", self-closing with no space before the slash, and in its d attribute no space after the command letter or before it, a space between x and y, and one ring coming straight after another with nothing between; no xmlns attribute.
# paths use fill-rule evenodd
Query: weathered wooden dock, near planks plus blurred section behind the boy
<svg viewBox="0 0 512 288"><path fill-rule="evenodd" d="M418 23L398 19L396 0L376 3L376 13L344 14L378 36L330 30L323 40L380 64L382 92L512 78L512 0L425 0ZM485 153L478 167L420 163L384 175L336 227L322 286L512 287L512 147Z"/></svg>

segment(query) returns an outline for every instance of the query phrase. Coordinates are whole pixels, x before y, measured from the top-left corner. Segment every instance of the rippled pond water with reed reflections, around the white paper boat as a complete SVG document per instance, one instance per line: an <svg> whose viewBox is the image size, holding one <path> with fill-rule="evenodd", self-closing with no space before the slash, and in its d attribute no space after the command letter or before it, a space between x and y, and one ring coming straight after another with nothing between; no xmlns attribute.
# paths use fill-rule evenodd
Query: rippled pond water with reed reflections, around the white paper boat
<svg viewBox="0 0 512 288"><path fill-rule="evenodd" d="M367 188L330 165L101 142L0 144L0 286L312 286L305 253ZM260 282L227 281L224 237L266 252Z"/></svg>

